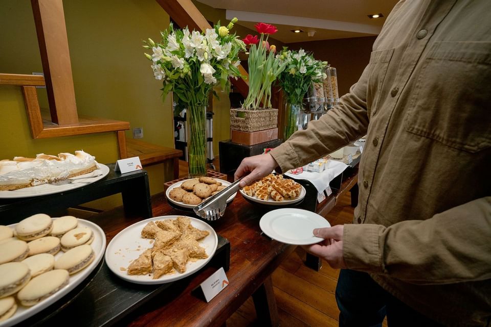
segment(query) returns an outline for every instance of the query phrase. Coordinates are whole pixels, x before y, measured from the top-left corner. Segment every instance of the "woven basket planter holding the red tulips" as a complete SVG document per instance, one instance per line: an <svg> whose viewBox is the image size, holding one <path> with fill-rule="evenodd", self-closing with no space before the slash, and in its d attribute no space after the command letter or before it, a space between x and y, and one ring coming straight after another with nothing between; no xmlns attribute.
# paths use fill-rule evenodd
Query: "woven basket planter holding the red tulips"
<svg viewBox="0 0 491 327"><path fill-rule="evenodd" d="M278 109L230 109L230 129L257 132L276 128Z"/></svg>

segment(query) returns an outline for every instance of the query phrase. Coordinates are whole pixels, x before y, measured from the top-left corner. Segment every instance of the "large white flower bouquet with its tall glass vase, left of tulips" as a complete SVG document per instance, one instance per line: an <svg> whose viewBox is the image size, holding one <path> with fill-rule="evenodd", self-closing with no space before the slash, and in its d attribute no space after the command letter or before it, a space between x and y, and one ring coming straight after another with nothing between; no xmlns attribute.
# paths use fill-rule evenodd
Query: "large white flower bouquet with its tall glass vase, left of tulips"
<svg viewBox="0 0 491 327"><path fill-rule="evenodd" d="M189 128L188 163L192 177L206 174L206 106L213 86L230 87L229 77L237 78L240 61L238 53L245 44L229 30L237 18L227 27L220 23L200 33L169 28L161 32L161 43L151 39L144 41L144 48L152 54L145 56L155 79L162 81L164 99L170 91L177 101L186 105ZM215 93L216 95L216 93Z"/></svg>

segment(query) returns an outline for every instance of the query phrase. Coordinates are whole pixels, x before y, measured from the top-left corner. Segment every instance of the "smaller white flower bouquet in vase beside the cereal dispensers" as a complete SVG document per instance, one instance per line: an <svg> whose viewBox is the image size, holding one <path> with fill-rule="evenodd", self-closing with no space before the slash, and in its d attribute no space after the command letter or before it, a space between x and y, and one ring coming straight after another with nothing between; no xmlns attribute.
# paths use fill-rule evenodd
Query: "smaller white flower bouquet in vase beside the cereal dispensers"
<svg viewBox="0 0 491 327"><path fill-rule="evenodd" d="M286 97L284 139L288 139L298 130L302 101L312 82L322 82L326 79L324 72L327 62L315 60L303 49L290 51L286 47L276 55L281 63L286 63L279 81Z"/></svg>

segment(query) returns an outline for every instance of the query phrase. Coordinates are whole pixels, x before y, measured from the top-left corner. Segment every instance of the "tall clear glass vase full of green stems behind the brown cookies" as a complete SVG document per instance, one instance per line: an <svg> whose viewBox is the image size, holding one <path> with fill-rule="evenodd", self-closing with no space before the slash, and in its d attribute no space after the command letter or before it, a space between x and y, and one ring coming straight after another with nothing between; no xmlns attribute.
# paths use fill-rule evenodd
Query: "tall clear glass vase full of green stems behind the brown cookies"
<svg viewBox="0 0 491 327"><path fill-rule="evenodd" d="M206 176L206 106L189 105L186 122L189 178Z"/></svg>

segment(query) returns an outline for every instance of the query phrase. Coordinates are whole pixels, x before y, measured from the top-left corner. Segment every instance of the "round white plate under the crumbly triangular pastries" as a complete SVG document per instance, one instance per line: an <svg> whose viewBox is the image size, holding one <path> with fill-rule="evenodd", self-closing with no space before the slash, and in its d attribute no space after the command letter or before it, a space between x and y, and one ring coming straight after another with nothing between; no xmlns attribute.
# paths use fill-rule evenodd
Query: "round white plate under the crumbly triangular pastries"
<svg viewBox="0 0 491 327"><path fill-rule="evenodd" d="M159 279L152 279L152 276L145 275L128 275L126 269L128 268L132 260L137 259L143 251L153 246L152 239L143 238L141 236L142 229L149 221L175 219L178 216L160 216L145 219L134 223L121 232L119 232L107 245L106 248L106 264L118 277L125 281L137 283L137 284L164 284L173 281L180 280L189 276L199 268L203 267L211 260L215 254L216 247L218 246L218 236L215 230L211 228L206 222L188 217L191 219L193 227L210 232L210 234L203 240L199 240L199 245L205 248L208 258L198 259L196 261L188 261L186 265L186 271L183 273L175 271L172 274L166 274Z"/></svg>

